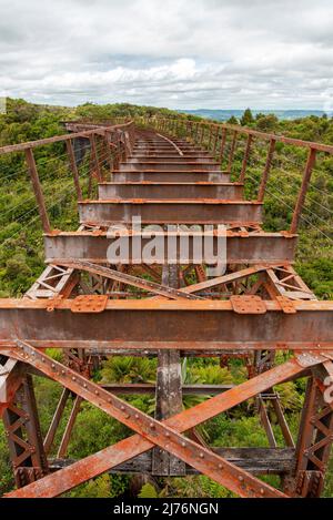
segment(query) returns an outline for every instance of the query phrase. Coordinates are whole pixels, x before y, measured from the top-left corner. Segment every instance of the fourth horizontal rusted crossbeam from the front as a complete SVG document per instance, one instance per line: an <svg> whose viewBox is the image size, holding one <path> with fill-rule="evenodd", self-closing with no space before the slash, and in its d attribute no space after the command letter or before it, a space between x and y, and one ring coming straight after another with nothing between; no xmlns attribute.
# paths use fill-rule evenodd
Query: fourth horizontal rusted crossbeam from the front
<svg viewBox="0 0 333 520"><path fill-rule="evenodd" d="M100 183L99 200L108 198L243 198L240 183Z"/></svg>

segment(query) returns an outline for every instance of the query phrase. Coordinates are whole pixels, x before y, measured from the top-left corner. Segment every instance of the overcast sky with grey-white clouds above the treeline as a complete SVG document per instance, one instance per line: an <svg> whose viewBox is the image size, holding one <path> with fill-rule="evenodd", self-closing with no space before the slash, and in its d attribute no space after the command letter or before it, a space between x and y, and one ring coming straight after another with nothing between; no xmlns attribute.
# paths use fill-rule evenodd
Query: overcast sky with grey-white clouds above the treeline
<svg viewBox="0 0 333 520"><path fill-rule="evenodd" d="M332 0L0 0L0 95L333 105Z"/></svg>

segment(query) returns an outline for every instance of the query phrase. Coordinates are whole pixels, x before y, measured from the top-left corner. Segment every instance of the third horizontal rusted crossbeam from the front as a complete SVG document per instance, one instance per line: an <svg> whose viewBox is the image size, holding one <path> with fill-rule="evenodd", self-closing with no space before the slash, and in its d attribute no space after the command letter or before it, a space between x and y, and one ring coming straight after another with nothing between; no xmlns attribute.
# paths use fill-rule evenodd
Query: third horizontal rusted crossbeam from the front
<svg viewBox="0 0 333 520"><path fill-rule="evenodd" d="M254 201L129 198L79 203L82 224L131 224L140 215L143 224L230 224L262 222L262 204Z"/></svg>

